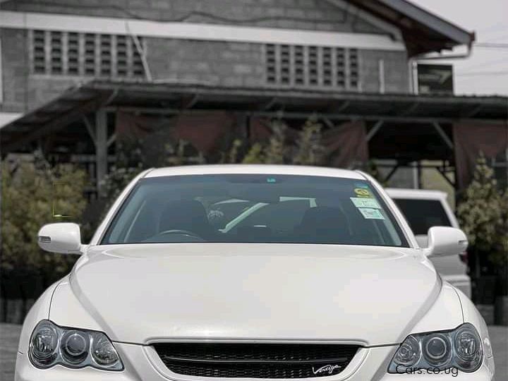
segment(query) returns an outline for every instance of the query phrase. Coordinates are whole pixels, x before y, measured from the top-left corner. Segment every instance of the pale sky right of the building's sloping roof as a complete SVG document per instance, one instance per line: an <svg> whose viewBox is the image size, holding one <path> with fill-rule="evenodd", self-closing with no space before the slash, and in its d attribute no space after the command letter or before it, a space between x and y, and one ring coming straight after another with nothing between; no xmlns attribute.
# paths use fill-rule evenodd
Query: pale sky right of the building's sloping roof
<svg viewBox="0 0 508 381"><path fill-rule="evenodd" d="M440 60L440 63L454 64L457 95L508 95L508 0L410 1L476 32L476 42L507 44L497 49L473 47L468 59Z"/></svg>

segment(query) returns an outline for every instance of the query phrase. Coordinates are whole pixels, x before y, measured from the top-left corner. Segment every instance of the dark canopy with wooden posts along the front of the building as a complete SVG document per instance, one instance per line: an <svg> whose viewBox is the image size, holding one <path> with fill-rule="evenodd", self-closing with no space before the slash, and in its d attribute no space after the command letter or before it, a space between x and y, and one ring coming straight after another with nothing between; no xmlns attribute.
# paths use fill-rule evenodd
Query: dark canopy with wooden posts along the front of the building
<svg viewBox="0 0 508 381"><path fill-rule="evenodd" d="M97 179L101 179L116 138L111 118L119 111L143 116L206 116L226 111L237 117L239 129L248 126L248 119L260 117L315 116L328 128L362 121L370 158L394 159L399 166L441 160L454 167L455 140L457 131L462 131L454 126L468 126L467 131L475 126L499 126L496 131L507 132L493 140L506 140L507 104L507 97L298 92L94 80L2 128L1 152L31 152L42 147L48 154L72 155L75 147L89 145L82 152L95 155Z"/></svg>

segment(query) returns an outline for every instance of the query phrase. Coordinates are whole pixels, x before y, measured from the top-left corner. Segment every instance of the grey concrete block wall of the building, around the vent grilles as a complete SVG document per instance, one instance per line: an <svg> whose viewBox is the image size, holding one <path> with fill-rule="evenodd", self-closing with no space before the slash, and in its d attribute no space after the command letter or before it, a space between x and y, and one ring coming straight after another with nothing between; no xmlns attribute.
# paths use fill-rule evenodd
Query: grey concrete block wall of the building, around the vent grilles
<svg viewBox="0 0 508 381"><path fill-rule="evenodd" d="M326 0L51 0L6 1L0 9L88 16L144 17L194 23L229 23L270 28L380 32ZM216 17L205 16L210 13ZM254 20L255 19L255 20ZM83 80L78 76L32 75L26 30L0 30L4 102L0 111L34 109ZM145 37L147 62L157 80L231 87L266 87L264 45ZM385 91L409 91L405 52L360 50L361 91L379 92L378 62L385 61ZM271 85L272 87L273 85ZM327 90L331 90L327 88Z"/></svg>

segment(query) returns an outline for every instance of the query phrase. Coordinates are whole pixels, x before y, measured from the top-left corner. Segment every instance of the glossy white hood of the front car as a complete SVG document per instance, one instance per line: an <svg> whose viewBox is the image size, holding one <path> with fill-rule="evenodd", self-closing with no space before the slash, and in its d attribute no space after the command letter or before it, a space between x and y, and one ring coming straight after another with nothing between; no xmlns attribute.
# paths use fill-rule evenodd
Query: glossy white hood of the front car
<svg viewBox="0 0 508 381"><path fill-rule="evenodd" d="M136 344L396 344L441 288L419 250L295 244L97 246L80 258L69 279L78 304L111 339Z"/></svg>

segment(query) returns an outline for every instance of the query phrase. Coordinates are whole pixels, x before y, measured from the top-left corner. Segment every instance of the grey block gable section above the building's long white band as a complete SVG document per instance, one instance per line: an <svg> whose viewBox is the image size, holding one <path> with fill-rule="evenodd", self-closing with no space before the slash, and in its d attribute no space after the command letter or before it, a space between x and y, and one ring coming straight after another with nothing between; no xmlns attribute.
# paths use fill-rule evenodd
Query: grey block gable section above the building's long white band
<svg viewBox="0 0 508 381"><path fill-rule="evenodd" d="M326 0L52 0L16 1L2 9L83 16L375 33L380 29Z"/></svg>

